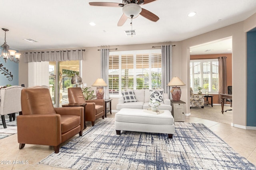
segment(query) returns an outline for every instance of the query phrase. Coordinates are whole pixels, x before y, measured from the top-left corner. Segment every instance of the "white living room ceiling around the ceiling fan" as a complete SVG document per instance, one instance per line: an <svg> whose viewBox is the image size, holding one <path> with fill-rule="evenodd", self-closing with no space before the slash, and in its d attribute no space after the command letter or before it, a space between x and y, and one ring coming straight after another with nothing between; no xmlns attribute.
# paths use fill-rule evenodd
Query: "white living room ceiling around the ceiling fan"
<svg viewBox="0 0 256 170"><path fill-rule="evenodd" d="M6 42L12 49L65 49L182 41L256 13L256 0L156 0L142 8L160 19L153 22L142 16L134 18L137 35L131 37L124 33L131 29L129 19L122 27L117 26L121 7L90 6L88 2L122 0L0 0L0 28L10 30ZM188 17L190 12L197 14ZM89 25L92 21L95 26ZM39 42L23 40L27 38ZM2 43L4 31L0 30Z"/></svg>

